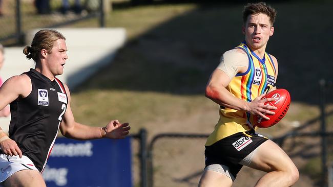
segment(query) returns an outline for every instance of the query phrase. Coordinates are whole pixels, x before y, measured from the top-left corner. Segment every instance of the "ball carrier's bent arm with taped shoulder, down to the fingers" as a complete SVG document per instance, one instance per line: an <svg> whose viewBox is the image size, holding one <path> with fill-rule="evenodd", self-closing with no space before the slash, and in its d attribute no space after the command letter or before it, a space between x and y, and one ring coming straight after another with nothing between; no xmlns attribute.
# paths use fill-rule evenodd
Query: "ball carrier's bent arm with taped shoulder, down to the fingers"
<svg viewBox="0 0 333 187"><path fill-rule="evenodd" d="M276 107L267 106L264 103L267 101L273 101L274 99L268 98L262 100L265 96L265 94L263 94L252 102L246 102L234 97L232 93L225 88L237 73L244 73L247 70L247 65L239 65L244 63L236 62L239 59L243 61L246 59L246 62L248 62L247 55L240 49L228 51L223 54L219 65L220 68L215 69L206 85L205 96L221 106L236 110L245 110L252 114L260 115L268 120L269 118L263 113L273 115L275 112L269 110L275 110Z"/></svg>

